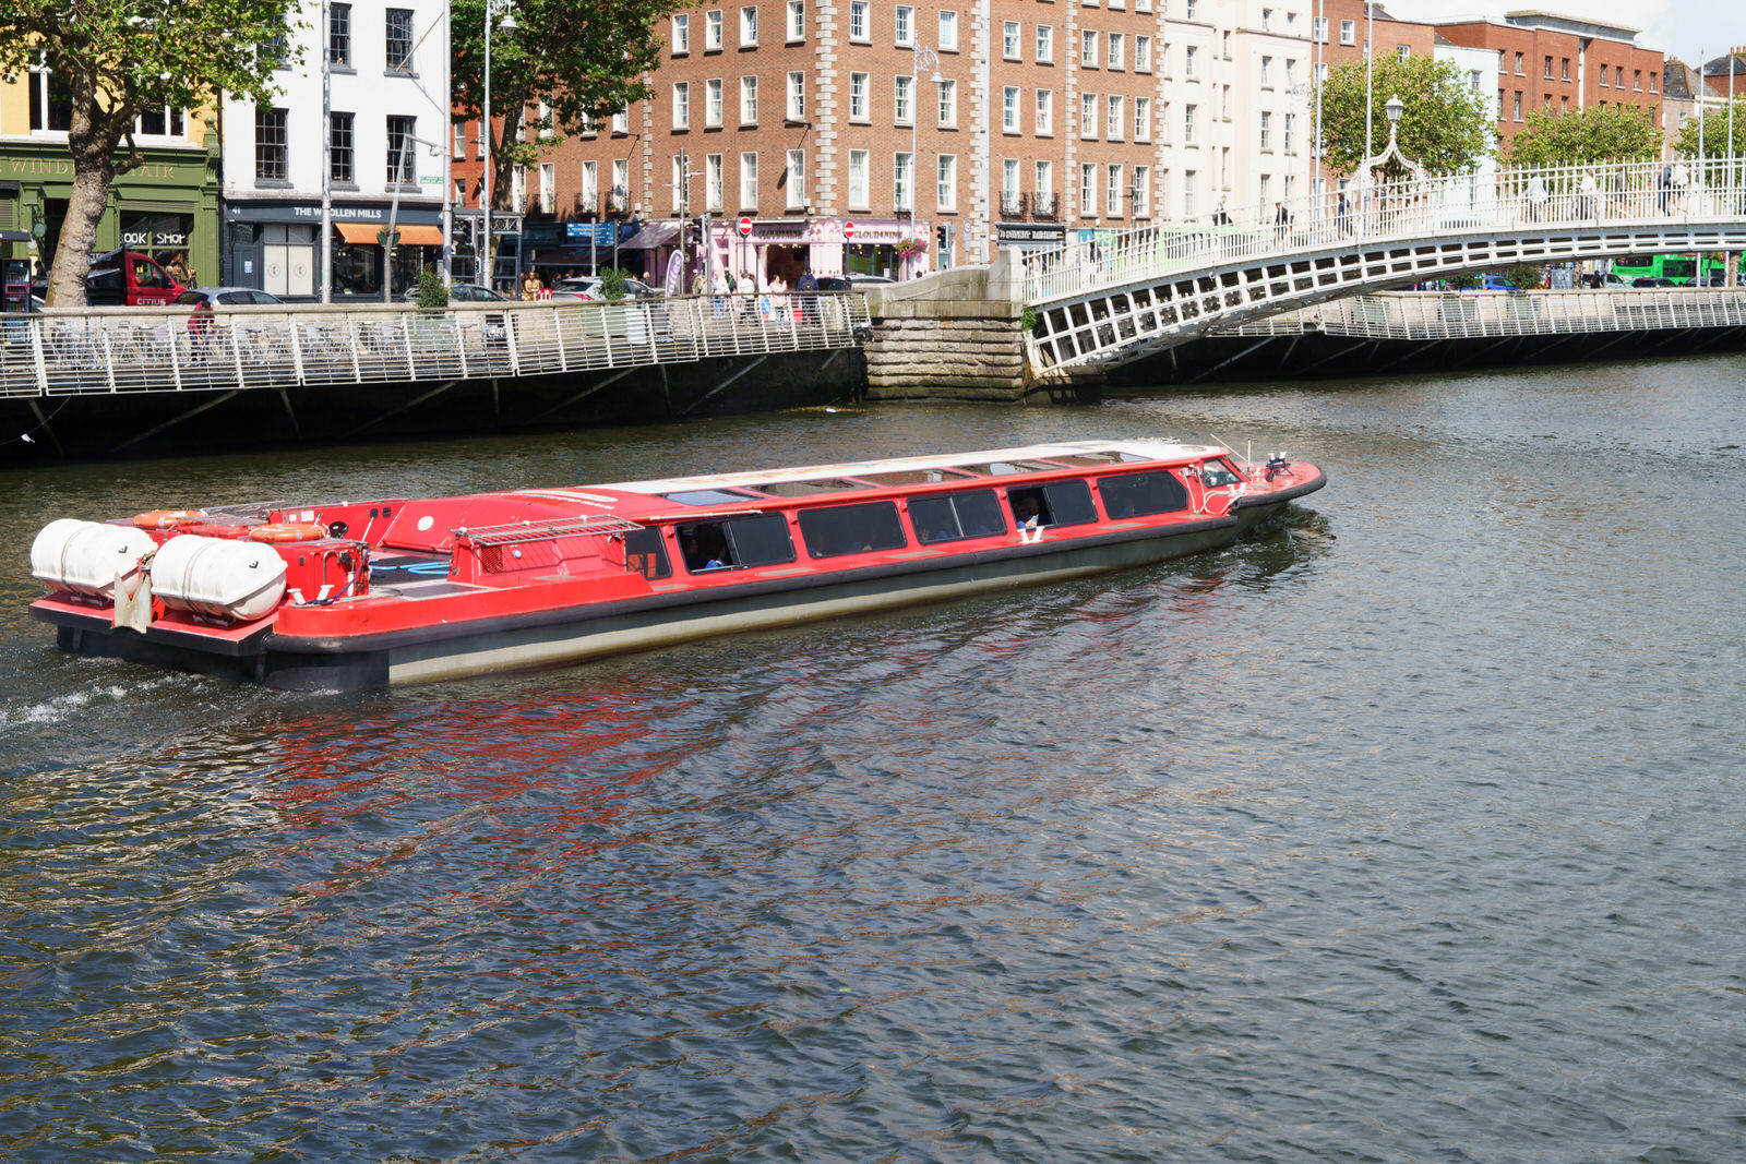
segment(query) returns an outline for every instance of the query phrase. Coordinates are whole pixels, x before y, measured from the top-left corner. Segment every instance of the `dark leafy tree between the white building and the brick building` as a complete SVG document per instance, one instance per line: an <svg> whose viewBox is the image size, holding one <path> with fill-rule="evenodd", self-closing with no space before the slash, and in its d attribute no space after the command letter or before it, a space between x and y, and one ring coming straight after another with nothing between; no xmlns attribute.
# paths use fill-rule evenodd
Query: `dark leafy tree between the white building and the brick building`
<svg viewBox="0 0 1746 1164"><path fill-rule="evenodd" d="M491 206L508 209L510 175L541 152L650 94L643 75L660 61L656 21L677 0L452 0L454 119L484 113L485 9L513 10L515 28L491 30ZM529 108L545 115L529 117ZM524 134L524 124L534 133ZM524 140L526 138L526 140Z"/></svg>

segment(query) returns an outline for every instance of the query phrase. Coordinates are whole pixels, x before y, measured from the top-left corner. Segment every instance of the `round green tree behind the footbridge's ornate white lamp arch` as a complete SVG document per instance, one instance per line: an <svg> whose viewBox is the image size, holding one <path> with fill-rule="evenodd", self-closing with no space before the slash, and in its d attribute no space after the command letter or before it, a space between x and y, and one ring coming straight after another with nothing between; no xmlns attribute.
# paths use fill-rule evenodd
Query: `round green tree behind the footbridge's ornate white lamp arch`
<svg viewBox="0 0 1746 1164"><path fill-rule="evenodd" d="M1383 106L1399 96L1400 152L1430 173L1467 169L1493 152L1496 110L1491 98L1474 92L1467 73L1454 61L1381 56L1374 61L1374 110L1371 150L1388 148L1388 115ZM1365 159L1364 65L1341 65L1322 86L1323 159L1336 173L1350 175Z"/></svg>

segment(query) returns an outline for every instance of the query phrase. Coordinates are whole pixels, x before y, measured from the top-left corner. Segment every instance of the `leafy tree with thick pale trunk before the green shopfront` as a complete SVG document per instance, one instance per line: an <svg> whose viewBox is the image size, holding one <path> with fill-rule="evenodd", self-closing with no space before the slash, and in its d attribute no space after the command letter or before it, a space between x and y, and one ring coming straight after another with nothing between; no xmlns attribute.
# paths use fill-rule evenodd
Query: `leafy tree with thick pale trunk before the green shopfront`
<svg viewBox="0 0 1746 1164"><path fill-rule="evenodd" d="M110 183L145 157L141 113L197 110L220 92L267 101L292 0L12 0L0 12L0 70L38 59L72 98L73 192L49 274L51 307L82 307ZM126 143L126 152L122 145Z"/></svg>

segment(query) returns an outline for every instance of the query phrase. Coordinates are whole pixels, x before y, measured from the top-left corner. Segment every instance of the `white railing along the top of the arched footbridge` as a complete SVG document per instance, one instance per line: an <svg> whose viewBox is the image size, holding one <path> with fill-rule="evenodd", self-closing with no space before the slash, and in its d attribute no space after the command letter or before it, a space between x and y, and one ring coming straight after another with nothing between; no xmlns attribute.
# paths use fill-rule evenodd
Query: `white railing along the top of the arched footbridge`
<svg viewBox="0 0 1746 1164"><path fill-rule="evenodd" d="M1236 211L1220 208L1196 222L1098 229L1083 241L1027 255L1023 293L1027 304L1046 304L1198 267L1388 239L1741 215L1746 215L1746 168L1725 159L1358 181L1343 192Z"/></svg>

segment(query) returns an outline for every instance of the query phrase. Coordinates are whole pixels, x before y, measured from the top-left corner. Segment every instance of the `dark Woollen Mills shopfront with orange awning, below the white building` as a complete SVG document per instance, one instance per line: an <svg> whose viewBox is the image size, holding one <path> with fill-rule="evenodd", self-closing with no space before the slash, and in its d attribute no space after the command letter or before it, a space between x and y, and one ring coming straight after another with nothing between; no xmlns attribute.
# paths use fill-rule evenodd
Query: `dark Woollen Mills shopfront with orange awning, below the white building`
<svg viewBox="0 0 1746 1164"><path fill-rule="evenodd" d="M400 236L389 297L417 286L426 264L442 267L442 208L431 204L349 202L332 208L333 300L382 300L382 236L393 218ZM321 202L225 202L225 283L269 291L290 302L321 298Z"/></svg>

